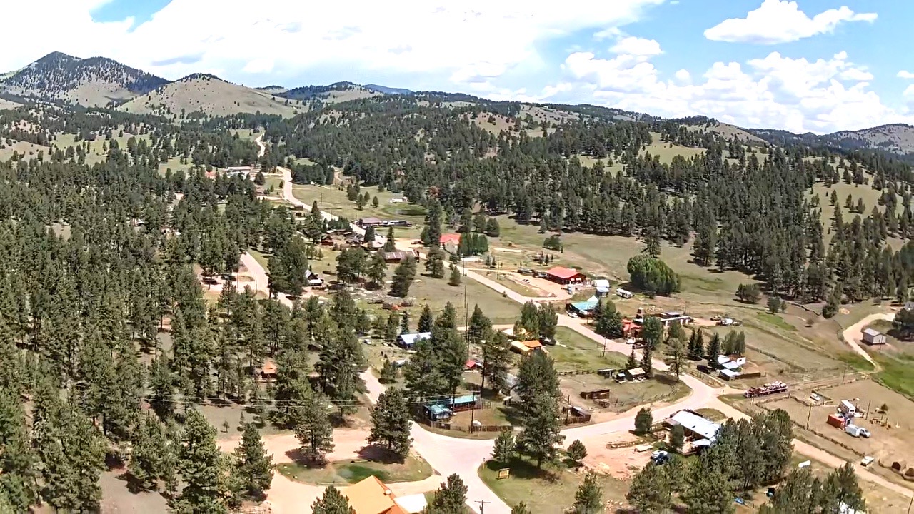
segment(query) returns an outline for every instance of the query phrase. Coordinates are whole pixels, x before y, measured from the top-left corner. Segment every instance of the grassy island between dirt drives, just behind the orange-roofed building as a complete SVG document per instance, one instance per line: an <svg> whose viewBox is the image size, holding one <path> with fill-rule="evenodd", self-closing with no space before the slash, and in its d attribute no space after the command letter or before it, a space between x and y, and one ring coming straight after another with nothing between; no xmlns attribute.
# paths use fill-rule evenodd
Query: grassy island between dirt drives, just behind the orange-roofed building
<svg viewBox="0 0 914 514"><path fill-rule="evenodd" d="M367 477L377 477L382 482L415 482L431 477L429 463L419 456L409 455L402 463L379 461L337 461L326 466L306 466L300 463L283 463L276 469L296 482L319 486L346 486L361 482Z"/></svg>

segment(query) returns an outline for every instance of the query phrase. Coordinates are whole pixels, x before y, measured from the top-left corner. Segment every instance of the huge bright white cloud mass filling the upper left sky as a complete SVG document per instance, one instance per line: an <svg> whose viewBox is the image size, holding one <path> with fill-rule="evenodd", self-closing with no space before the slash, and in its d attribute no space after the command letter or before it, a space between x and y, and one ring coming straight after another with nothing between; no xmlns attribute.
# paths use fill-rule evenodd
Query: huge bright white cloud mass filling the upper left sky
<svg viewBox="0 0 914 514"><path fill-rule="evenodd" d="M42 37L36 38L28 24L6 24L5 40L28 44L0 53L0 70L15 70L59 50L111 57L166 79L208 71L260 85L302 80L307 70L334 69L431 77L439 87L447 87L450 77L449 89L455 90L517 66L542 66L537 48L544 40L583 29L611 32L663 3L569 0L561 8L546 8L521 0L404 0L391 8L368 0L172 0L132 27L132 19L93 21L90 10L105 1L4 5L7 19L40 19Z"/></svg>

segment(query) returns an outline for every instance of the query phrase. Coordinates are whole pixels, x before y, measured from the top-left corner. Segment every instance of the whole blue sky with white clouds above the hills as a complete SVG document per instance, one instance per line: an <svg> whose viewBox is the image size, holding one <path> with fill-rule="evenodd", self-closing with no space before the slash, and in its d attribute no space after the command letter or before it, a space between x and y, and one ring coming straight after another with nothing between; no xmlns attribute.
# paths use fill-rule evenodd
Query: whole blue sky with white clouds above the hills
<svg viewBox="0 0 914 514"><path fill-rule="evenodd" d="M340 80L831 133L914 123L914 2L34 0L0 70L52 51L175 80ZM39 26L39 28L38 28Z"/></svg>

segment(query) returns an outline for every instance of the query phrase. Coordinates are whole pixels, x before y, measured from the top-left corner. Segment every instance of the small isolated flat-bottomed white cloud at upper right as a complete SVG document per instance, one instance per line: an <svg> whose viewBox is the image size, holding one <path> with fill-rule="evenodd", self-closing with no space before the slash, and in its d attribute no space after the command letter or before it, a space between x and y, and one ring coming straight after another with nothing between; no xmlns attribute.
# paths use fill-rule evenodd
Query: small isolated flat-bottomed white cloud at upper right
<svg viewBox="0 0 914 514"><path fill-rule="evenodd" d="M705 37L730 43L773 45L831 33L844 22L872 23L876 18L876 13L855 13L846 6L828 9L810 18L800 10L796 2L764 0L759 8L749 11L746 17L729 18L708 28Z"/></svg>

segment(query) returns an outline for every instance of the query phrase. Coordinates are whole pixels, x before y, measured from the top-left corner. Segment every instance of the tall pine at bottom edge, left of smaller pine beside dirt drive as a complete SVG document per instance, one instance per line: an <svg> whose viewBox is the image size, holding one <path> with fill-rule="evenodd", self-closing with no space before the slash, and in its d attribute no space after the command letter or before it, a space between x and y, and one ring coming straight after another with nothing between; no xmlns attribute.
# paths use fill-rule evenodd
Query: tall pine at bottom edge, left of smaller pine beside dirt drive
<svg viewBox="0 0 914 514"><path fill-rule="evenodd" d="M176 510L228 512L219 487L219 455L216 430L203 414L188 411L178 456L178 469L185 487L181 496L175 498Z"/></svg>

